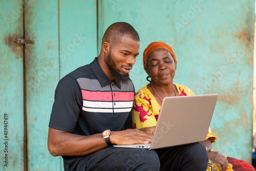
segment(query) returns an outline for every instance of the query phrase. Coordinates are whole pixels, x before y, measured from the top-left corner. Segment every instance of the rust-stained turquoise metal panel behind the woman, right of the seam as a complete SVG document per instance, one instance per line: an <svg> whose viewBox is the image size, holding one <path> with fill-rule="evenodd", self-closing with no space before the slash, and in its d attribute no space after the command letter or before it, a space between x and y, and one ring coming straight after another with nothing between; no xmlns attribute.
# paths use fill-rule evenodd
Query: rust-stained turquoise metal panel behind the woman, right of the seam
<svg viewBox="0 0 256 171"><path fill-rule="evenodd" d="M143 50L165 41L178 59L174 82L196 94L218 93L211 129L215 151L251 161L255 1L99 1L99 36L114 22L140 35L131 71L135 89L146 83ZM156 11L156 12L155 12Z"/></svg>

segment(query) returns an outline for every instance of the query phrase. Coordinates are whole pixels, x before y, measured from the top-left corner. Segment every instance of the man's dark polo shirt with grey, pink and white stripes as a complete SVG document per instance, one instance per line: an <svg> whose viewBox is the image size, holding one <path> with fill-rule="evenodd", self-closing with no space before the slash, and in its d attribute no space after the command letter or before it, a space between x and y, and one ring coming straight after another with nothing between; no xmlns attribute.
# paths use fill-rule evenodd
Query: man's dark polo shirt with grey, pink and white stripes
<svg viewBox="0 0 256 171"><path fill-rule="evenodd" d="M49 127L79 135L131 127L134 86L112 82L94 59L63 77L55 90Z"/></svg>

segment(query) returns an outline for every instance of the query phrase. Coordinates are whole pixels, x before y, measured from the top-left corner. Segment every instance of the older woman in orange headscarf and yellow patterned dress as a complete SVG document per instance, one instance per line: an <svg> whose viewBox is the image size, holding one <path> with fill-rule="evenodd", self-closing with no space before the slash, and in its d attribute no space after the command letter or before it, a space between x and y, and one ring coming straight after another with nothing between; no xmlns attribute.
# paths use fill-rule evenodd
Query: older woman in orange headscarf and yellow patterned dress
<svg viewBox="0 0 256 171"><path fill-rule="evenodd" d="M134 98L132 121L133 127L136 129L156 126L164 97L195 95L187 87L173 82L177 58L173 49L164 42L152 42L148 45L143 53L143 66L150 83L140 89ZM201 142L208 153L207 170L255 170L245 161L212 151L211 143L217 139L218 137L209 128L206 141ZM158 153L158 150L156 152Z"/></svg>

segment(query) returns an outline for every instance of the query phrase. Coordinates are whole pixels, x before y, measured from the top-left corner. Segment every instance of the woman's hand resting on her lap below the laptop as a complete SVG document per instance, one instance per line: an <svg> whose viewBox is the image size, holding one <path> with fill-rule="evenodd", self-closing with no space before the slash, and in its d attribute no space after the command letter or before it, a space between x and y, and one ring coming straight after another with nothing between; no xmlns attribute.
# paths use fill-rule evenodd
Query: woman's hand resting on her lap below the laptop
<svg viewBox="0 0 256 171"><path fill-rule="evenodd" d="M212 149L208 151L208 158L215 162L215 164L220 167L222 170L227 170L228 161L225 156L223 156L220 152L213 152Z"/></svg>

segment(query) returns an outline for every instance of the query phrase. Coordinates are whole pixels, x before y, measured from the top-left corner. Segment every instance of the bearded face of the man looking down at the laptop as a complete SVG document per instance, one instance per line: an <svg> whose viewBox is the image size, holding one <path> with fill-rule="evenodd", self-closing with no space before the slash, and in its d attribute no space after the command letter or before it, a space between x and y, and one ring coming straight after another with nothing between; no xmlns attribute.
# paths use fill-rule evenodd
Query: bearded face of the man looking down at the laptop
<svg viewBox="0 0 256 171"><path fill-rule="evenodd" d="M136 57L139 54L140 42L128 37L121 37L121 42L111 46L108 56L105 58L115 82L127 82L129 72L133 68Z"/></svg>

